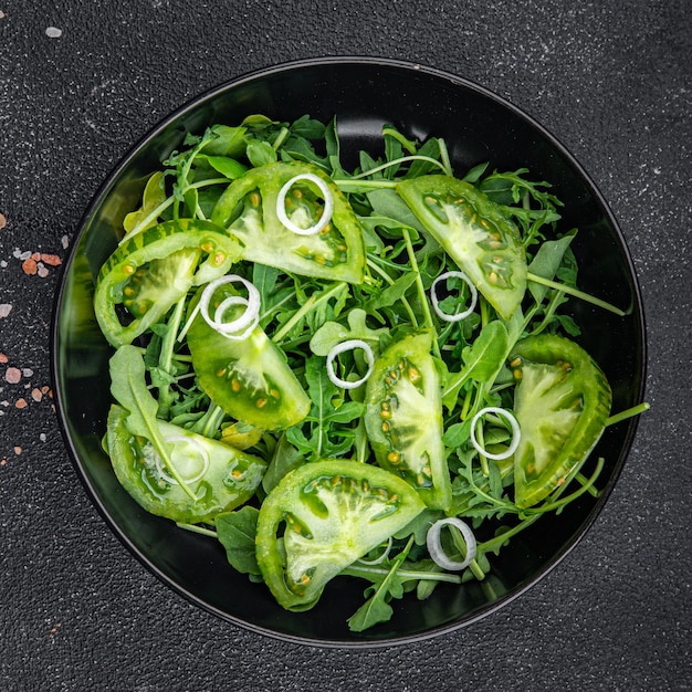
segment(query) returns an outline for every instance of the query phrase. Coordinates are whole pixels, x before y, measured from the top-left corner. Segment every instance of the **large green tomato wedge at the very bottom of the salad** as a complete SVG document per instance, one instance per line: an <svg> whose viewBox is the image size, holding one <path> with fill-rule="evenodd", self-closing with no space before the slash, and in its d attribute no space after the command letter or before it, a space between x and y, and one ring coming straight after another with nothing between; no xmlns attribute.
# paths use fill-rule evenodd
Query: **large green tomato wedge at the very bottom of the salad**
<svg viewBox="0 0 692 692"><path fill-rule="evenodd" d="M256 558L287 610L307 610L325 585L424 508L400 478L371 464L328 459L285 475L262 503Z"/></svg>

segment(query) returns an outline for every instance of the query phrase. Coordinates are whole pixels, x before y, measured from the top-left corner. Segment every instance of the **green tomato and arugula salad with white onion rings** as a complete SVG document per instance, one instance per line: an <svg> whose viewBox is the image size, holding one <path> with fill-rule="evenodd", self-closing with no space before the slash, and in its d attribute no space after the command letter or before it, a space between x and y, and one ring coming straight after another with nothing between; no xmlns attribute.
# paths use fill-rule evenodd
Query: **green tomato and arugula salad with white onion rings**
<svg viewBox="0 0 692 692"><path fill-rule="evenodd" d="M528 170L454 171L392 126L342 164L336 120L188 135L123 221L94 307L114 348L104 449L148 512L219 541L283 608L358 578L400 598L597 494L611 415L564 304L588 301ZM326 596L325 596L326 597Z"/></svg>

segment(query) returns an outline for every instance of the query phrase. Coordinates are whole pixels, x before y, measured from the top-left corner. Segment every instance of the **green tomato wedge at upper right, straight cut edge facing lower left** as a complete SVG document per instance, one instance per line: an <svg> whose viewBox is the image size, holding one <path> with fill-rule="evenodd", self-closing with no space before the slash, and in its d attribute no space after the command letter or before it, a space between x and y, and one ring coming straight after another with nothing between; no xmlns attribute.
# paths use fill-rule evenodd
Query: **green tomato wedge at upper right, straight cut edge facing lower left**
<svg viewBox="0 0 692 692"><path fill-rule="evenodd" d="M516 226L464 180L421 176L397 191L503 319L526 291L526 254Z"/></svg>

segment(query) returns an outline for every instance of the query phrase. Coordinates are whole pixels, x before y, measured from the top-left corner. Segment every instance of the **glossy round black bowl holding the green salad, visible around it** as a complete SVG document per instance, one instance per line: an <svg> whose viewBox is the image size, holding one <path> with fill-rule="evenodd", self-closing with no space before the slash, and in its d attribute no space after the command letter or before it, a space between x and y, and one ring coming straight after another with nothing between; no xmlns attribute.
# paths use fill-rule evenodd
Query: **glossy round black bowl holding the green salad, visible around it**
<svg viewBox="0 0 692 692"><path fill-rule="evenodd" d="M394 124L410 137L444 137L458 171L490 161L503 170L526 167L533 179L551 181L565 202L564 230L579 228L573 248L581 287L631 308L617 317L575 302L570 310L583 328L580 342L612 385L615 411L641 400L644 323L632 263L602 197L555 137L489 91L437 70L360 57L310 60L233 80L168 117L132 149L87 210L65 266L53 325L56 401L77 473L111 528L155 575L232 623L287 640L349 647L405 642L468 625L521 595L577 544L612 489L636 420L609 427L593 454L606 459L600 499L585 494L559 516L520 534L493 562L485 583L440 586L426 601L397 601L390 622L363 635L346 626L361 602L360 583L333 583L310 612L283 610L264 585L228 566L220 544L141 510L116 481L101 448L112 349L92 310L94 276L115 248L123 217L137 207L146 177L180 146L186 132L238 124L254 113L280 120L310 114L326 122L336 115L344 156L354 165L359 149L378 150L382 125Z"/></svg>

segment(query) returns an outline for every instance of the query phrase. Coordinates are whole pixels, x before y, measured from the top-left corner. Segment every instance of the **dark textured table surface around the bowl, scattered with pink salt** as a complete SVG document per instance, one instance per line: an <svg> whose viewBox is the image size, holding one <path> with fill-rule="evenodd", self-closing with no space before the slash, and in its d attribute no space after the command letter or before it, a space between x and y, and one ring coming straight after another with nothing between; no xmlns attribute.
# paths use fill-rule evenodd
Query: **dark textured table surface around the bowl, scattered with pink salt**
<svg viewBox="0 0 692 692"><path fill-rule="evenodd" d="M692 689L691 36L689 0L0 0L0 690ZM652 406L551 575L373 651L263 638L150 576L77 481L49 368L60 262L128 147L233 76L344 54L468 77L572 150L633 258Z"/></svg>

